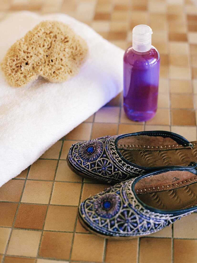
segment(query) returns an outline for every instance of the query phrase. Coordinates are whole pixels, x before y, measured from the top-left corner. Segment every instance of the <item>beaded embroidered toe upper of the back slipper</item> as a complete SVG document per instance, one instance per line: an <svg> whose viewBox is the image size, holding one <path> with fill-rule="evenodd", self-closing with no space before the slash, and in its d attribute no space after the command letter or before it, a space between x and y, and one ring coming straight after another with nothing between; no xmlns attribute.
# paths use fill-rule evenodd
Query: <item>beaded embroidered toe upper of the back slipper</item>
<svg viewBox="0 0 197 263"><path fill-rule="evenodd" d="M118 135L119 136L119 135ZM125 163L115 148L116 136L104 136L73 144L68 152L72 165L96 179L120 182L145 171Z"/></svg>

